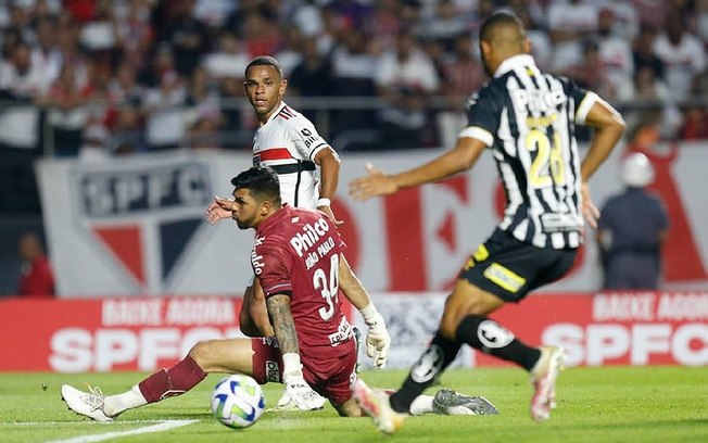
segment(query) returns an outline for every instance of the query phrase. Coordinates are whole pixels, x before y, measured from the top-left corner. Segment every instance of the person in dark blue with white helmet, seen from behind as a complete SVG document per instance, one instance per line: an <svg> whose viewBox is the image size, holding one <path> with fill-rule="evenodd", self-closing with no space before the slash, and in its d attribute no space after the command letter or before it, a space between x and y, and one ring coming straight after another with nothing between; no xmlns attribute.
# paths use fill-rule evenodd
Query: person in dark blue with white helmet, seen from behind
<svg viewBox="0 0 708 443"><path fill-rule="evenodd" d="M608 200L598 220L603 289L658 289L669 219L659 198L645 189L654 167L636 152L622 162L621 176L625 190Z"/></svg>

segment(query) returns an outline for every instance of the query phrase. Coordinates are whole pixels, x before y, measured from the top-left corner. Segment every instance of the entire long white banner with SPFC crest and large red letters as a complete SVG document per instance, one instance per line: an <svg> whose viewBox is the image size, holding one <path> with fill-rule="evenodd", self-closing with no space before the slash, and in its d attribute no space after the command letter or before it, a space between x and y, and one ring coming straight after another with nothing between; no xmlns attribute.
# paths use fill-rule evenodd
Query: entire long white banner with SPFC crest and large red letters
<svg viewBox="0 0 708 443"><path fill-rule="evenodd" d="M708 288L708 147L682 144L649 153L657 169L653 190L670 215L663 289ZM347 183L365 163L399 172L440 151L343 155L333 210L349 244L347 260L370 291L442 291L467 255L498 223L504 192L491 155L475 168L439 183L354 202ZM616 150L591 181L602 205L620 191ZM214 194L231 192L230 178L251 157L228 153L168 153L74 160L39 165L45 226L60 296L241 294L251 279L252 231L230 220L204 221ZM593 291L600 273L592 237L574 268L549 291Z"/></svg>

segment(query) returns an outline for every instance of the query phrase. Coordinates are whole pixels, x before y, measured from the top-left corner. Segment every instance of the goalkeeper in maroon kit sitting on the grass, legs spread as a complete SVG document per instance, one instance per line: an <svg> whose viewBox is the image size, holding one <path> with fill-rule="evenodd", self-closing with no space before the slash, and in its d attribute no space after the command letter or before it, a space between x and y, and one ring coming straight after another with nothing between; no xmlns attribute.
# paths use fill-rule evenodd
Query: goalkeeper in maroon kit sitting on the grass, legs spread
<svg viewBox="0 0 708 443"><path fill-rule="evenodd" d="M280 206L278 179L268 168L248 169L232 183L236 188L232 218L241 229L256 229L252 265L264 282L273 322L268 327L275 330L277 340L270 337L200 342L173 367L149 376L118 395L104 396L98 389L83 392L65 384L62 397L72 410L93 420L111 421L127 409L180 395L210 372L240 372L260 383L283 382L289 397L300 409L321 408L327 397L341 416L362 415L350 390L356 380L356 347L337 298L336 281L344 267L341 255L344 243L333 223L317 211ZM319 233L309 248L323 251L319 263L311 268L305 264L306 255L301 256L293 242L288 241L307 227L314 227ZM326 298L324 288L332 289ZM369 332L378 330L388 340L383 319L370 303L365 311L367 307L372 309L367 311ZM381 357L380 350L378 354L376 351L378 339L371 342L371 353ZM381 362L385 362L385 354ZM414 412L496 413L481 397L458 395L450 390L441 390L439 394L434 398L421 395L413 406Z"/></svg>

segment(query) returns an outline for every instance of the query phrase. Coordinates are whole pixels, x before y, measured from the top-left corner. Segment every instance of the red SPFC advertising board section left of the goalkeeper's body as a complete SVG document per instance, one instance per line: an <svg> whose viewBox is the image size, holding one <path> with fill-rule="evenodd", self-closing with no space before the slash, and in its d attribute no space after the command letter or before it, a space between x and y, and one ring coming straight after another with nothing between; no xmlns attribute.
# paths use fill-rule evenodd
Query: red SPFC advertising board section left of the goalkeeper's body
<svg viewBox="0 0 708 443"><path fill-rule="evenodd" d="M243 337L240 299L2 300L0 371L154 370L200 340Z"/></svg>

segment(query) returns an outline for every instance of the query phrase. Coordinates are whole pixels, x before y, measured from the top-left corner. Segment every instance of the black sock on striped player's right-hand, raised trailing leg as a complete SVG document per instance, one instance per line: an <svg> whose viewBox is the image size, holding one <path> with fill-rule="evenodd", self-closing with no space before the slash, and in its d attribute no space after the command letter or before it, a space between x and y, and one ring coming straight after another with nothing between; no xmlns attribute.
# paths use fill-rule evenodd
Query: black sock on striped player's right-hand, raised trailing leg
<svg viewBox="0 0 708 443"><path fill-rule="evenodd" d="M456 338L458 342L514 362L527 370L531 370L541 357L541 351L527 346L500 324L481 315L465 317L457 327Z"/></svg>

